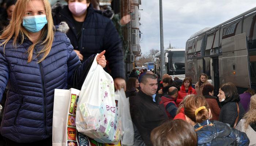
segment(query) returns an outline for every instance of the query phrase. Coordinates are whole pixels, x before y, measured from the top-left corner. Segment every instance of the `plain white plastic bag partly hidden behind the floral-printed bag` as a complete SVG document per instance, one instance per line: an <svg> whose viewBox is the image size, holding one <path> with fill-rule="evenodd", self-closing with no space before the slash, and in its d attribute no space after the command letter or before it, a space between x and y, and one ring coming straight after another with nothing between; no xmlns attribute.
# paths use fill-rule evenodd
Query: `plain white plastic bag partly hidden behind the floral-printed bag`
<svg viewBox="0 0 256 146"><path fill-rule="evenodd" d="M130 114L129 97L126 98L124 89L116 91L116 95L119 95L118 111L122 120L122 144L124 146L133 146L134 130L132 125L132 118Z"/></svg>

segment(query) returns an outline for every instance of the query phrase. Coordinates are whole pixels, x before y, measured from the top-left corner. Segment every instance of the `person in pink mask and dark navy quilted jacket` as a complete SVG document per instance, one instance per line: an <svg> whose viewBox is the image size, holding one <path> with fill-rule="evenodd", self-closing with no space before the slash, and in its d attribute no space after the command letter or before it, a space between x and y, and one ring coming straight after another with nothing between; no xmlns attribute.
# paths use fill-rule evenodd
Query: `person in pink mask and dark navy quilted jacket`
<svg viewBox="0 0 256 146"><path fill-rule="evenodd" d="M67 22L70 28L67 36L82 62L90 55L106 50L107 67L115 88L125 89L122 42L112 21L95 10L90 0L66 1L68 5L53 6L54 24Z"/></svg>

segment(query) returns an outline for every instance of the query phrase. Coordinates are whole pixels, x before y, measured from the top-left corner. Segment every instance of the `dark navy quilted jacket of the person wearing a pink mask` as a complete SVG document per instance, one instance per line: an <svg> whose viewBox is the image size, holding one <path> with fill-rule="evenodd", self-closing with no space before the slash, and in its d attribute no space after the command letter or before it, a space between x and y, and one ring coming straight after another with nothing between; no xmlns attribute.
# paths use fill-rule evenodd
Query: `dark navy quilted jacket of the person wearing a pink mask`
<svg viewBox="0 0 256 146"><path fill-rule="evenodd" d="M106 50L105 56L109 62L107 66L111 70L111 76L125 79L122 42L116 27L109 18L103 16L101 11L95 10L90 4L83 22L81 37L78 39L74 18L72 18L68 5L57 5L52 11L54 24L63 21L68 23L70 30L67 32L67 36L74 49L79 50L83 55L83 61L93 54Z"/></svg>

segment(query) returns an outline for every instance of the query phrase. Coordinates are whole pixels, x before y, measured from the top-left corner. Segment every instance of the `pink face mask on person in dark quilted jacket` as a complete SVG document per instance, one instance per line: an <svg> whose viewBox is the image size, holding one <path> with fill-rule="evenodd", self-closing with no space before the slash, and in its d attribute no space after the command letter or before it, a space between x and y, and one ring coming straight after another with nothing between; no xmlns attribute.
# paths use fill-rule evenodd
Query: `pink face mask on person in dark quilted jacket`
<svg viewBox="0 0 256 146"><path fill-rule="evenodd" d="M87 9L87 4L73 2L68 4L68 9L71 11L72 14L76 16L83 15Z"/></svg>

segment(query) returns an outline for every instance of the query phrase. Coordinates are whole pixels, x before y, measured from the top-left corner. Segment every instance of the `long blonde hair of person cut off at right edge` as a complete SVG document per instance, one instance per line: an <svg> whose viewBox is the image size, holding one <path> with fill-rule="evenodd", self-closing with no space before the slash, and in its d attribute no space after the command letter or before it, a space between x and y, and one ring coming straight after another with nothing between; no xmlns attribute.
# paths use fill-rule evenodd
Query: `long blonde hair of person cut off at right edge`
<svg viewBox="0 0 256 146"><path fill-rule="evenodd" d="M246 112L244 115L245 123L244 127L245 130L248 129L249 124L255 123L256 122L256 95L253 95L251 97L250 105L249 105L249 110Z"/></svg>

